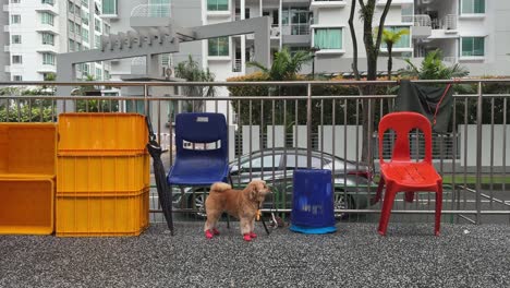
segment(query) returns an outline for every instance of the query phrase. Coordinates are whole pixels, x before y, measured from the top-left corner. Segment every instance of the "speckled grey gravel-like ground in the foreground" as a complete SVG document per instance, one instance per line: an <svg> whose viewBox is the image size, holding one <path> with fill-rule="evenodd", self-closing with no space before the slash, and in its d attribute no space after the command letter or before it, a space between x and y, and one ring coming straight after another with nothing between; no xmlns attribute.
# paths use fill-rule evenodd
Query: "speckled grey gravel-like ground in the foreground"
<svg viewBox="0 0 510 288"><path fill-rule="evenodd" d="M338 224L244 242L238 223L206 240L202 223L133 238L0 236L0 287L510 287L510 226Z"/></svg>

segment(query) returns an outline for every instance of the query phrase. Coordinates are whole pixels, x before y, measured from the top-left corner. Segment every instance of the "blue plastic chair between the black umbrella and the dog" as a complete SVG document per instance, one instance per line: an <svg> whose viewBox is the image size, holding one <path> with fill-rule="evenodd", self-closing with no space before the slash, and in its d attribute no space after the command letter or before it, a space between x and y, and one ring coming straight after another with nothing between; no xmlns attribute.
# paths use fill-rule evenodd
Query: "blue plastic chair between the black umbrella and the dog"
<svg viewBox="0 0 510 288"><path fill-rule="evenodd" d="M207 144L207 149L204 148ZM167 176L170 185L210 187L231 182L228 130L221 113L179 113L175 117L175 161ZM230 225L229 225L230 226Z"/></svg>

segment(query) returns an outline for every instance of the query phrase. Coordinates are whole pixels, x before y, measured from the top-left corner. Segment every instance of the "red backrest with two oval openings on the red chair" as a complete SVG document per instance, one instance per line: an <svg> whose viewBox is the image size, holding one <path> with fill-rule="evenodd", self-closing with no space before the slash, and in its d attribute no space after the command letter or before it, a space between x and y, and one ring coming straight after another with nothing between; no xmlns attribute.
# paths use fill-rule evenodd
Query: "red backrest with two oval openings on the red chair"
<svg viewBox="0 0 510 288"><path fill-rule="evenodd" d="M432 164L432 127L430 121L423 115L416 112L392 112L388 113L379 122L379 163L382 158L382 137L387 130L393 130L397 141L391 154L391 160L410 161L409 132L418 129L425 136L425 163Z"/></svg>

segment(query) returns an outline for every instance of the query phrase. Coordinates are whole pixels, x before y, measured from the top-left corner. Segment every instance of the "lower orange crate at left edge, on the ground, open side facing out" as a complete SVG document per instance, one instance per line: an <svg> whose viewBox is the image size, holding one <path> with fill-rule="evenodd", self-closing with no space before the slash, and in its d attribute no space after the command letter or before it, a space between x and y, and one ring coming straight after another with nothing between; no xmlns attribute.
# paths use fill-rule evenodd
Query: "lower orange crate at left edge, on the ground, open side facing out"
<svg viewBox="0 0 510 288"><path fill-rule="evenodd" d="M0 179L0 233L52 233L53 203L51 179Z"/></svg>

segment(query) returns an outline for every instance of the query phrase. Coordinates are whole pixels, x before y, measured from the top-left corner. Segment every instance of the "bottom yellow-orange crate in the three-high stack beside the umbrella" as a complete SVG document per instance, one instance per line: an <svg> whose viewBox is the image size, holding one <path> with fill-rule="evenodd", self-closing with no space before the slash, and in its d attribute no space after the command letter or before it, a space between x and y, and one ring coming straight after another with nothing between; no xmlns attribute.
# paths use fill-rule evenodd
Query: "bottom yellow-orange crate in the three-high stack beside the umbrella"
<svg viewBox="0 0 510 288"><path fill-rule="evenodd" d="M148 227L149 189L118 195L57 193L58 237L138 236Z"/></svg>

